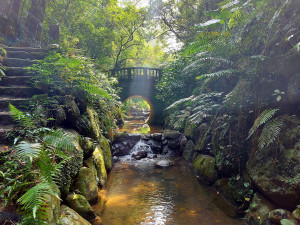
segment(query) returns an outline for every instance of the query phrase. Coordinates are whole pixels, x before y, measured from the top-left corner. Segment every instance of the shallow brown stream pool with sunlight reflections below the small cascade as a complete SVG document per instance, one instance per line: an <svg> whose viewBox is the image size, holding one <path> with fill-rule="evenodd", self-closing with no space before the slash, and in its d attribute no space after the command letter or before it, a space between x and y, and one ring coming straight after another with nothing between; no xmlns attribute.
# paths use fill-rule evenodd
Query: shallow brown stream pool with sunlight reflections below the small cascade
<svg viewBox="0 0 300 225"><path fill-rule="evenodd" d="M153 166L157 160L124 157L116 163L107 185L104 225L244 224L216 206L216 196L199 184L184 161L159 169Z"/></svg>

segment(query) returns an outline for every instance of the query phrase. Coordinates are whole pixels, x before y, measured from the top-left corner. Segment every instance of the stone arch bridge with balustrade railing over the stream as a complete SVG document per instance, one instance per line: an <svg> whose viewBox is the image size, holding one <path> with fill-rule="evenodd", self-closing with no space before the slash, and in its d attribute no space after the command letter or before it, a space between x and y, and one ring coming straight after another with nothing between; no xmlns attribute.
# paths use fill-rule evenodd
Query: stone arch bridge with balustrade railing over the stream
<svg viewBox="0 0 300 225"><path fill-rule="evenodd" d="M151 106L149 123L161 124L163 119L164 104L155 96L156 83L160 80L161 69L148 67L128 67L111 70L110 76L118 79L117 87L121 88L119 94L121 101L138 96L145 99Z"/></svg>

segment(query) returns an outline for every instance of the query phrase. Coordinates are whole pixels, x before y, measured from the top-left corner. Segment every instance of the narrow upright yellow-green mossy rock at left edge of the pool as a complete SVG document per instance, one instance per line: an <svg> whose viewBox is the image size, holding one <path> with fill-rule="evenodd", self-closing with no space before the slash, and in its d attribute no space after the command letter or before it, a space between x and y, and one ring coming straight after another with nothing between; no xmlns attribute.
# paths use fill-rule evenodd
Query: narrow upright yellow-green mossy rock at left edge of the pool
<svg viewBox="0 0 300 225"><path fill-rule="evenodd" d="M93 159L97 170L97 176L100 185L103 187L107 182L107 172L105 169L104 155L100 146L97 146L93 152Z"/></svg>

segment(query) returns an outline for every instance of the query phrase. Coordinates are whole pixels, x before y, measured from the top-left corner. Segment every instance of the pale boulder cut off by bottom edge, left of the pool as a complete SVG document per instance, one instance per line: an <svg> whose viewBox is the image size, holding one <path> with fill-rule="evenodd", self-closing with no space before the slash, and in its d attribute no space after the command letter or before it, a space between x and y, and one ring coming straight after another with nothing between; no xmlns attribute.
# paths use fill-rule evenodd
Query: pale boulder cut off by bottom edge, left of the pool
<svg viewBox="0 0 300 225"><path fill-rule="evenodd" d="M66 205L61 206L60 217L57 225L91 225L86 219L81 217L73 209Z"/></svg>

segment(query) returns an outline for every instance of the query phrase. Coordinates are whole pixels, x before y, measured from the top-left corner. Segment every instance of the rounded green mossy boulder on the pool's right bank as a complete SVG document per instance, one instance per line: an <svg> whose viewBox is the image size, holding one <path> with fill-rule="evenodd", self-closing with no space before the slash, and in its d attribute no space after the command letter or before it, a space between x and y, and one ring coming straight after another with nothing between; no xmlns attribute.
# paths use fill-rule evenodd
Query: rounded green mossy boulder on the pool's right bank
<svg viewBox="0 0 300 225"><path fill-rule="evenodd" d="M215 168L215 158L208 155L198 155L193 163L197 174L204 181L213 184L217 179L217 170Z"/></svg>

